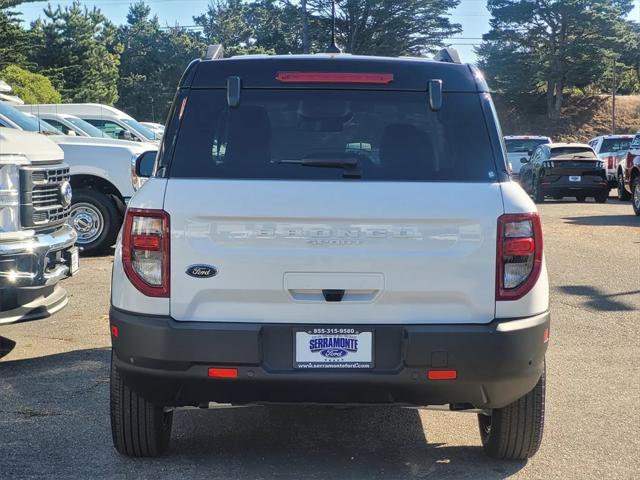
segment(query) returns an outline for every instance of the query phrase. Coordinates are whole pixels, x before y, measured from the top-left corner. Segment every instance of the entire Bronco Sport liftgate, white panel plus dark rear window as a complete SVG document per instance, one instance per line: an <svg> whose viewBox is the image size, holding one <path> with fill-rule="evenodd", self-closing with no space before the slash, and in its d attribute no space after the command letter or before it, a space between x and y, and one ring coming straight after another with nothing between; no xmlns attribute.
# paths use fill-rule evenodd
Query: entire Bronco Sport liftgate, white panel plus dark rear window
<svg viewBox="0 0 640 480"><path fill-rule="evenodd" d="M243 88L234 107L189 92L164 207L173 318L493 320L504 212L487 97L445 91L432 111L425 91L370 88ZM186 273L201 264L217 274Z"/></svg>

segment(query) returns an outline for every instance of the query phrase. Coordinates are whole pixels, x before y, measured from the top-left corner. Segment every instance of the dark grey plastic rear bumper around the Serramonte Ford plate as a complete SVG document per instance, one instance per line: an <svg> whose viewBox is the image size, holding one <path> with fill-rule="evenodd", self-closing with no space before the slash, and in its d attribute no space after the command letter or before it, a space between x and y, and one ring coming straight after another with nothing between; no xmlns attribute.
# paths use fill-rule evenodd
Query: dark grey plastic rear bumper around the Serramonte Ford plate
<svg viewBox="0 0 640 480"><path fill-rule="evenodd" d="M112 308L114 364L124 381L165 406L219 403L349 403L505 406L544 368L549 313L487 325L371 325L372 370L294 370L300 325L176 322ZM327 325L323 325L326 327ZM344 326L344 325L342 325ZM211 379L234 367L236 379ZM428 380L430 369L457 371Z"/></svg>

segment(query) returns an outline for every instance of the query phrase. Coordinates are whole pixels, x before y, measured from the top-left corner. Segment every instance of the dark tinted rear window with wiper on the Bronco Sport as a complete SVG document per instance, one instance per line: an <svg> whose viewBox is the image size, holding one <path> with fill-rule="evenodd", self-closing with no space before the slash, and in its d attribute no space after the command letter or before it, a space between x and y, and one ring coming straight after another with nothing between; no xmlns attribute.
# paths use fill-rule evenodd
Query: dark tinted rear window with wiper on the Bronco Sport
<svg viewBox="0 0 640 480"><path fill-rule="evenodd" d="M337 164L342 164L339 167ZM356 175L353 173L356 172ZM192 90L172 177L386 181L496 181L477 94Z"/></svg>

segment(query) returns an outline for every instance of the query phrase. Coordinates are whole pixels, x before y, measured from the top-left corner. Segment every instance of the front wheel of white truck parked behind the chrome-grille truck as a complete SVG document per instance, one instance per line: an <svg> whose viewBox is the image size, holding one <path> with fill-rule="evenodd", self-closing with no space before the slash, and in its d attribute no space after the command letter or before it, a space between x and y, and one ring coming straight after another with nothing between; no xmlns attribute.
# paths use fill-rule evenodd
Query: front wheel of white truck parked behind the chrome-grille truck
<svg viewBox="0 0 640 480"><path fill-rule="evenodd" d="M74 190L69 224L78 234L76 245L99 253L116 241L122 219L111 197L97 190Z"/></svg>

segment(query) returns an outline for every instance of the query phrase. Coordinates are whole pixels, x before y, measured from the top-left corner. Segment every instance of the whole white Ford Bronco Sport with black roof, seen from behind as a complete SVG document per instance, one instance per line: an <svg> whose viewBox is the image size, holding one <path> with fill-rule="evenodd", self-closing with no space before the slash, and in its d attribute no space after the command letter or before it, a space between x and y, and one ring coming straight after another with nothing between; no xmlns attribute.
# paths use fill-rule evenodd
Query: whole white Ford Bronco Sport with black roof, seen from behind
<svg viewBox="0 0 640 480"><path fill-rule="evenodd" d="M216 402L448 405L489 455L536 453L540 219L482 76L440 57L188 67L116 247L119 452L162 453L174 408Z"/></svg>

